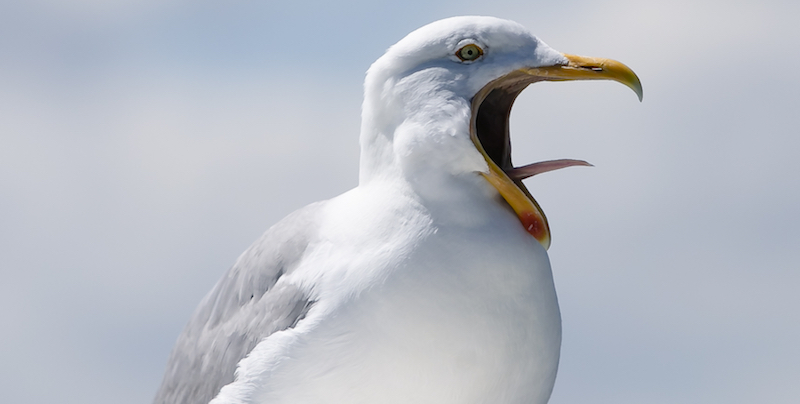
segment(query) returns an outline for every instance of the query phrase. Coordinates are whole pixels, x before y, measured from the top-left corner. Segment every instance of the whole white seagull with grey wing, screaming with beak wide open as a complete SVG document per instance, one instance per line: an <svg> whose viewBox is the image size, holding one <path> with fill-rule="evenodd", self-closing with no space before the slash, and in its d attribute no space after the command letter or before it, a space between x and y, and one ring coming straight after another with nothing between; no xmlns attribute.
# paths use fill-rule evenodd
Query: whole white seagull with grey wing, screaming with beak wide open
<svg viewBox="0 0 800 404"><path fill-rule="evenodd" d="M514 166L509 115L528 85L613 80L523 26L453 17L369 68L358 186L275 224L200 303L155 403L548 401L561 316L550 230Z"/></svg>

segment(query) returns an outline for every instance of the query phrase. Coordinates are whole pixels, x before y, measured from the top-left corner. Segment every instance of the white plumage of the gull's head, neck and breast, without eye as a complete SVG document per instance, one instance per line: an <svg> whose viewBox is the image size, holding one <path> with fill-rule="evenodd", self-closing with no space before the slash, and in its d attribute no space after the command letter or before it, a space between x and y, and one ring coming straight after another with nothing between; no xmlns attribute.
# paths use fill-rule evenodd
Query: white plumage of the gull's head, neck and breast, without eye
<svg viewBox="0 0 800 404"><path fill-rule="evenodd" d="M461 63L464 41L485 56ZM459 17L391 47L365 84L359 186L278 282L315 301L212 403L545 403L561 324L547 253L479 174L471 97L563 59L516 23Z"/></svg>

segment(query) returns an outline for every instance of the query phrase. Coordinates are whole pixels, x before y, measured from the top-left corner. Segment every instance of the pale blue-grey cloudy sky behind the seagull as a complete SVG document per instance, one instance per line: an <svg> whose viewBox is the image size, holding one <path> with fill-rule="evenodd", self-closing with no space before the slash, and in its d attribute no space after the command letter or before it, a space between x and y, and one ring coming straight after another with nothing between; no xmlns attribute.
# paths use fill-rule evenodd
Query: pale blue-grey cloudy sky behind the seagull
<svg viewBox="0 0 800 404"><path fill-rule="evenodd" d="M286 4L285 4L286 3ZM269 226L357 183L364 73L453 15L513 19L644 87L512 113L564 322L552 404L800 397L800 3L0 0L0 390L147 403Z"/></svg>

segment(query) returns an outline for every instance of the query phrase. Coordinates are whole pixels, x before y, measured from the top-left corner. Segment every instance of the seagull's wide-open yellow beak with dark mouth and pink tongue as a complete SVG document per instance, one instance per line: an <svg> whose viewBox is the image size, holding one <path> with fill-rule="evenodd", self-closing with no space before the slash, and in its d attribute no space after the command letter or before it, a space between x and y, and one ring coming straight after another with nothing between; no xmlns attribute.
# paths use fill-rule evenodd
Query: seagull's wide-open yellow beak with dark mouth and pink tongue
<svg viewBox="0 0 800 404"><path fill-rule="evenodd" d="M559 168L590 164L581 160L553 160L514 167L508 124L514 100L532 83L566 80L617 81L630 87L642 100L642 84L624 64L610 59L564 56L567 64L515 70L487 84L472 99L470 136L489 165L489 172L482 174L517 213L525 230L545 249L550 247L550 226L522 180Z"/></svg>

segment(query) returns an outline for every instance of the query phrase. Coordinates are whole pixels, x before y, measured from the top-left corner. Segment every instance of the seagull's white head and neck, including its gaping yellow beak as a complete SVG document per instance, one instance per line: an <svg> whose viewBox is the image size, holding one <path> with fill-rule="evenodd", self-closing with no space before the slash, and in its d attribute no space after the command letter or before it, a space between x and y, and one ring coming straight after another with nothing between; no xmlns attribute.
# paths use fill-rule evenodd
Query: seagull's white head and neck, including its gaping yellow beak
<svg viewBox="0 0 800 404"><path fill-rule="evenodd" d="M528 85L567 80L613 80L642 98L638 77L622 63L558 52L513 21L453 17L419 28L367 72L360 183L401 176L430 190L482 177L547 248L547 219L522 179L588 163L515 167L509 117Z"/></svg>

